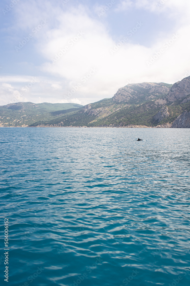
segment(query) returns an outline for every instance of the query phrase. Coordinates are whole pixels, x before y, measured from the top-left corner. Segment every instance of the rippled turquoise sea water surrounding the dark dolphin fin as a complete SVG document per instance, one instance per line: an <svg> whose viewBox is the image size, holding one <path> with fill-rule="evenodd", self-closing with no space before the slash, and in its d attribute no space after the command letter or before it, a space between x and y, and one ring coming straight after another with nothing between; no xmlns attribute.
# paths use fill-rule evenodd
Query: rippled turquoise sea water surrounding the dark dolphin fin
<svg viewBox="0 0 190 286"><path fill-rule="evenodd" d="M190 129L0 136L2 285L190 285Z"/></svg>

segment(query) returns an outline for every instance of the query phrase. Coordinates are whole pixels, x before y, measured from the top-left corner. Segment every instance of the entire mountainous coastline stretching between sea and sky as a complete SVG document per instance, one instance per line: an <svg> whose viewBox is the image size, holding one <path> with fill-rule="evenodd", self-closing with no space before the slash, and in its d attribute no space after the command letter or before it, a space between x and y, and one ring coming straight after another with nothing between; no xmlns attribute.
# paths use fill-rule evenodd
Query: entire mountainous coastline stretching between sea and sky
<svg viewBox="0 0 190 286"><path fill-rule="evenodd" d="M34 107L30 106L29 112L20 111L18 114L18 110L21 108L17 105L20 106L20 104L31 104ZM63 105L66 106L66 104ZM46 110L43 113L42 111L37 112L36 110L39 109L36 106L43 109L40 104L23 102L12 104L12 117L5 112L3 114L5 119L1 116L1 125L190 128L190 76L173 85L163 82L128 84L120 88L112 98L104 98L86 106L72 105L67 110L57 104L56 110ZM2 108L9 109L7 106L1 106L1 115ZM17 117L14 118L13 111L16 108L18 108ZM44 108L48 109L47 107ZM34 109L36 109L35 115L31 115ZM25 110L24 107L23 110Z"/></svg>

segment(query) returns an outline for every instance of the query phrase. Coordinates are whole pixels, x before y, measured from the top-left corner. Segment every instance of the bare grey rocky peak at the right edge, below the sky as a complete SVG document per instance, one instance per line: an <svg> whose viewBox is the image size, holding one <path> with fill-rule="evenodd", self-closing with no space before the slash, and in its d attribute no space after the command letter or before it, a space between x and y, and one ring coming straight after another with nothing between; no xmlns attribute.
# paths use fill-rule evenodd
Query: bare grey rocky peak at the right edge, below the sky
<svg viewBox="0 0 190 286"><path fill-rule="evenodd" d="M166 98L172 102L183 99L188 95L190 95L190 76L173 84Z"/></svg>

